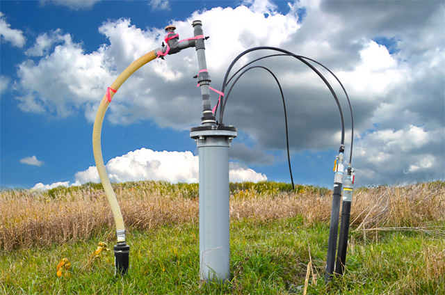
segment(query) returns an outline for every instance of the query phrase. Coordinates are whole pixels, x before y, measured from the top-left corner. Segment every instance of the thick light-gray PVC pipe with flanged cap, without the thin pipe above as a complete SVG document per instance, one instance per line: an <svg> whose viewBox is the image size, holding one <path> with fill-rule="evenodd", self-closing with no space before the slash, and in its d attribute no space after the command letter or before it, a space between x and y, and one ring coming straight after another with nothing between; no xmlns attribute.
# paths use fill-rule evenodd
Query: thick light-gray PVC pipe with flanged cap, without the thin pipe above
<svg viewBox="0 0 445 295"><path fill-rule="evenodd" d="M191 131L200 157L200 278L230 280L229 147L236 131Z"/></svg>

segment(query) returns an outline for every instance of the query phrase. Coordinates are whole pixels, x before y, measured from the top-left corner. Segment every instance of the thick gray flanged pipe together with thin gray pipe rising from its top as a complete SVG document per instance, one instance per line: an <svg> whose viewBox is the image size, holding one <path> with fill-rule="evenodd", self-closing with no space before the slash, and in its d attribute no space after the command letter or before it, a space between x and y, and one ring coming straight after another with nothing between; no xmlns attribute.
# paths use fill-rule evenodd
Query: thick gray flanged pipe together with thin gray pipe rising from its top
<svg viewBox="0 0 445 295"><path fill-rule="evenodd" d="M202 23L193 22L194 35L202 35ZM210 76L204 39L195 42L202 94L200 127L191 129L200 157L200 278L204 282L230 280L229 147L236 128L216 125L211 111Z"/></svg>

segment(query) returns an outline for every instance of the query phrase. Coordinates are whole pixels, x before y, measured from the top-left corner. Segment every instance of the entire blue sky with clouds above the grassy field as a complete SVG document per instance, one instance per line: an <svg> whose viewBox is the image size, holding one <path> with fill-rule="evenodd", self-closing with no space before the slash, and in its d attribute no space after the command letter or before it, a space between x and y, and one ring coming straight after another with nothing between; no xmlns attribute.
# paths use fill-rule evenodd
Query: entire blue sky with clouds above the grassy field
<svg viewBox="0 0 445 295"><path fill-rule="evenodd" d="M444 1L0 1L0 187L51 189L99 182L92 124L108 86L202 21L211 86L238 54L279 47L330 68L350 97L355 185L445 180ZM274 54L254 51L234 70ZM325 83L296 58L258 61L280 81L296 184L332 186L341 143L339 109ZM315 65L339 97L329 72ZM131 76L108 107L102 152L111 182L198 182L191 127L200 125L195 49L156 59ZM212 93L216 104L218 94ZM224 122L232 182L290 182L280 90L263 69L234 86Z"/></svg>

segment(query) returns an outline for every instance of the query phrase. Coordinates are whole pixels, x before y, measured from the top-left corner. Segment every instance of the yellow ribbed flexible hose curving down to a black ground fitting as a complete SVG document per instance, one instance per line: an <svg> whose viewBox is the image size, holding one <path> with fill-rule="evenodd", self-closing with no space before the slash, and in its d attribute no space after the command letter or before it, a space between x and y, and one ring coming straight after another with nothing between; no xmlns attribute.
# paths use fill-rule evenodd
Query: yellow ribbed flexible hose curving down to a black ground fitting
<svg viewBox="0 0 445 295"><path fill-rule="evenodd" d="M124 72L122 72L119 77L115 79L113 84L111 84L110 86L112 91L110 89L107 89L104 98L102 98L102 102L100 103L99 109L96 113L95 125L92 128L92 151L95 155L97 172L99 173L102 186L104 186L106 198L108 199L108 202L111 206L111 211L113 212L118 242L125 241L124 219L122 218L122 212L120 211L118 200L116 199L113 188L111 187L110 180L108 179L108 175L106 174L104 159L102 158L102 148L100 143L102 122L104 122L106 109L108 109L108 104L110 104L110 102L108 101L108 97L113 98L115 91L117 91L120 86L122 86L122 84L131 76L131 74L136 72L140 67L142 67L149 61L153 61L155 58L155 51L150 51L149 53L141 56L136 61L131 63L131 65L129 65L124 70Z"/></svg>

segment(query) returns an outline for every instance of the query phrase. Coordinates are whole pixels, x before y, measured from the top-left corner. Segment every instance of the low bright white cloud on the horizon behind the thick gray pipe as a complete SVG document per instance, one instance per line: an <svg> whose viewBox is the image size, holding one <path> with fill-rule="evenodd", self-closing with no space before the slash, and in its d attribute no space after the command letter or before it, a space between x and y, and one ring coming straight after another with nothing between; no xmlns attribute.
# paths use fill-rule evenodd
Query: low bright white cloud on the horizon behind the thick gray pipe
<svg viewBox="0 0 445 295"><path fill-rule="evenodd" d="M156 152L142 148L108 161L105 166L111 182L166 180L168 182L199 182L199 158L192 152ZM75 175L76 182L100 182L95 166ZM259 182L266 175L241 166L229 164L231 182Z"/></svg>

